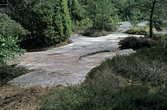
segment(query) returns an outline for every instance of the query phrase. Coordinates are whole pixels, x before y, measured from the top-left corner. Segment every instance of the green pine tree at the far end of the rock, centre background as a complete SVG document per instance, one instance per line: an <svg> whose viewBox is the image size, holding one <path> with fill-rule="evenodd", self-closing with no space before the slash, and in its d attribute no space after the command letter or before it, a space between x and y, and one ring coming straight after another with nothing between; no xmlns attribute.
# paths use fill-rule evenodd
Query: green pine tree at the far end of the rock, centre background
<svg viewBox="0 0 167 110"><path fill-rule="evenodd" d="M93 30L112 30L114 22L118 21L117 10L111 0L90 0L87 4L87 12L93 20Z"/></svg>

